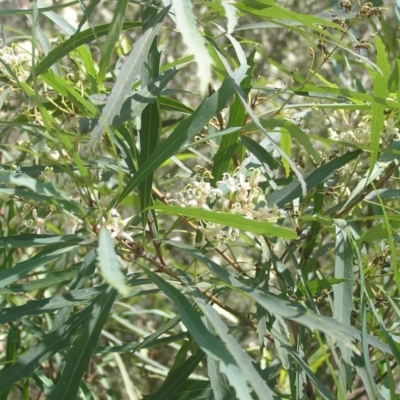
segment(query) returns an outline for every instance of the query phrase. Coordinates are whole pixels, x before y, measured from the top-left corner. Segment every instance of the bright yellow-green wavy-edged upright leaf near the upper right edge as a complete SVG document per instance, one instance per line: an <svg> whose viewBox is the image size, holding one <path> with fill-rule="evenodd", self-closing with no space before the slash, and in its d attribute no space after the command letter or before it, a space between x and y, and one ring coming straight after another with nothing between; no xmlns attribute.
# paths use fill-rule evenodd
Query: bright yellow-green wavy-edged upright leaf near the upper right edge
<svg viewBox="0 0 400 400"><path fill-rule="evenodd" d="M377 64L380 71L375 72L373 76L374 96L386 99L389 96L388 82L392 67L388 62L385 46L383 45L382 39L379 36L377 36L375 39L375 45L377 51ZM378 104L377 102L372 103L370 173L372 173L378 158L381 131L385 121L384 112L384 105Z"/></svg>

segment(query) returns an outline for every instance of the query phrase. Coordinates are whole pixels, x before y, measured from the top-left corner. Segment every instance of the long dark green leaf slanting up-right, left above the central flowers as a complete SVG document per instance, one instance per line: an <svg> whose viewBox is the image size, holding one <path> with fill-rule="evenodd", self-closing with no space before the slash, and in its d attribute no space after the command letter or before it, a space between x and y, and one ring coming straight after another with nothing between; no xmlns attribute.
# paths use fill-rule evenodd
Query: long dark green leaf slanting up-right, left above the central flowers
<svg viewBox="0 0 400 400"><path fill-rule="evenodd" d="M110 208L118 204L157 167L179 151L187 140L198 134L204 125L225 107L234 92L232 82L225 80L221 87L212 96L205 99L188 119L182 121L165 141L157 145L151 153L151 158L148 158L138 169L126 184L123 192L111 203Z"/></svg>

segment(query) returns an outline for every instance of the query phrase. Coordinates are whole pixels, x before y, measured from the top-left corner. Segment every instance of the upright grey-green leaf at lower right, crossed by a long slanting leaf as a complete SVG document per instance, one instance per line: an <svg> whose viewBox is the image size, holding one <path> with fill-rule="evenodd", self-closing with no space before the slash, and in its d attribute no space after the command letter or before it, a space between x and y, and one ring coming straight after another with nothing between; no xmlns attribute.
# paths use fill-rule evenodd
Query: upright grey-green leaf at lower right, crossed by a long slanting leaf
<svg viewBox="0 0 400 400"><path fill-rule="evenodd" d="M334 220L336 228L335 243L335 278L346 279L345 282L333 286L333 318L342 324L350 326L350 315L353 305L353 251L348 237L347 224L343 220ZM341 363L344 376L342 386L351 390L352 377L352 352L347 346L339 343Z"/></svg>

